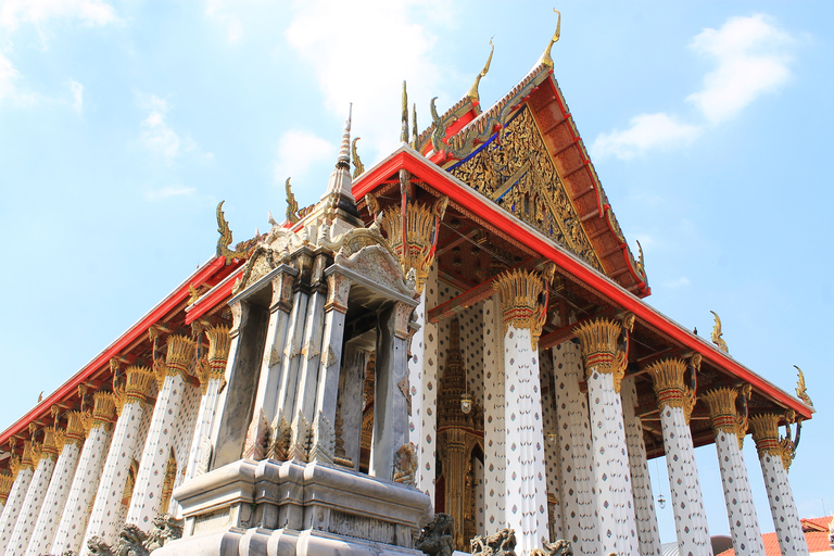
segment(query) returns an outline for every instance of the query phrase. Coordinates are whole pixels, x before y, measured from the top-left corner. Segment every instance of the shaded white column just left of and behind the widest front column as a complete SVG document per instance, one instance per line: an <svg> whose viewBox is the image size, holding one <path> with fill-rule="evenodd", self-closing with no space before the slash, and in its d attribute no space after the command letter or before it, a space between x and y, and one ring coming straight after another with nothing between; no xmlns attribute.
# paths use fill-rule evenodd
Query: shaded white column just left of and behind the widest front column
<svg viewBox="0 0 834 556"><path fill-rule="evenodd" d="M484 515L486 533L504 528L506 484L504 475L507 460L504 443L504 323L501 298L494 294L483 302L484 357ZM434 331L437 337L437 330ZM437 354L437 344L434 344Z"/></svg>

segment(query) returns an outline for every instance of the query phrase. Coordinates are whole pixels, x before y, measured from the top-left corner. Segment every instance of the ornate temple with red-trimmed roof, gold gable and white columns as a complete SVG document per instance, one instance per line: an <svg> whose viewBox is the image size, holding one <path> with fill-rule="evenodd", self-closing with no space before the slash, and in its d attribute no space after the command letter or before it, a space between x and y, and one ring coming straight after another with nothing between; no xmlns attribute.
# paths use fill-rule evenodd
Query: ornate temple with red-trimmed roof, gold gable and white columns
<svg viewBox="0 0 834 556"><path fill-rule="evenodd" d="M718 315L708 341L644 301L557 40L421 132L404 88L374 167L349 117L320 201L288 180L267 233L233 244L220 203L216 256L0 434L0 555L659 555L661 457L680 554L711 556L706 444L734 554L766 554L757 472L808 554L810 399L731 357Z"/></svg>

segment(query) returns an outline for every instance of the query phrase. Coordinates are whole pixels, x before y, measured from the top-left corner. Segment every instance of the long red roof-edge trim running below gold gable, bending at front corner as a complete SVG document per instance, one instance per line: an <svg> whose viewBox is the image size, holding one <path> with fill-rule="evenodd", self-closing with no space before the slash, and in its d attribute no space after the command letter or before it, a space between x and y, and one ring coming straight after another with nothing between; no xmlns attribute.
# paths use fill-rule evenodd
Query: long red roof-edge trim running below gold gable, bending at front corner
<svg viewBox="0 0 834 556"><path fill-rule="evenodd" d="M388 179L400 168L405 168L420 179L430 182L441 193L448 195L456 202L471 210L482 218L493 223L497 228L507 231L522 243L546 256L559 267L569 271L580 280L596 289L622 308L631 311L637 318L644 320L675 341L691 350L695 350L718 367L729 370L740 379L749 382L753 388L766 393L771 399L784 406L796 410L805 419L811 418L811 409L794 399L786 392L778 389L763 378L743 367L722 352L707 344L703 339L694 336L677 323L669 320L654 307L647 305L634 294L626 291L607 277L578 261L572 255L563 251L551 241L543 238L531 228L527 227L513 215L488 201L468 187L460 187L459 180L447 174L443 168L431 164L424 156L412 149L401 147L394 154L382 161L378 166L363 174L353 186L353 194L362 199L368 192L376 189L383 180Z"/></svg>

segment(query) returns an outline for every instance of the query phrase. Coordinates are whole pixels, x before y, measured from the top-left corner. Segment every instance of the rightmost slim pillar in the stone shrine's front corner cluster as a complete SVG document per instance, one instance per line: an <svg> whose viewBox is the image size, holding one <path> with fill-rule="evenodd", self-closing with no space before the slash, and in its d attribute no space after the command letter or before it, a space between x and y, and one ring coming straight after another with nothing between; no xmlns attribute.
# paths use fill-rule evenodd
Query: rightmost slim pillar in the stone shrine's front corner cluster
<svg viewBox="0 0 834 556"><path fill-rule="evenodd" d="M333 267L330 270L336 270ZM327 303L325 304L325 327L320 340L321 353L316 383L315 416L313 418L313 442L311 459L331 463L334 446L326 441L326 433L334 429L336 409L339 399L339 375L344 340L344 315L348 313L348 296L351 281L338 271L328 273ZM364 369L363 369L364 370ZM363 374L364 376L364 374ZM357 384L358 386L358 384ZM361 386L359 386L361 388ZM362 428L362 427L359 427ZM358 464L357 460L351 460Z"/></svg>

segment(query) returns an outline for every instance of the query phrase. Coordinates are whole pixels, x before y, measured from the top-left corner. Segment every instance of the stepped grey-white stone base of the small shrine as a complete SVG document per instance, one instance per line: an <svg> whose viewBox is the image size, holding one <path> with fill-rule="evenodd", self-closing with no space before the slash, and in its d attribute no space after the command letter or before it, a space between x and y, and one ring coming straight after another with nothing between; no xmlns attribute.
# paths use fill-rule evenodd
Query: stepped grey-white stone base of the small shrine
<svg viewBox="0 0 834 556"><path fill-rule="evenodd" d="M320 462L241 459L174 491L184 539L154 556L418 555L429 497ZM230 552L229 552L230 551Z"/></svg>

